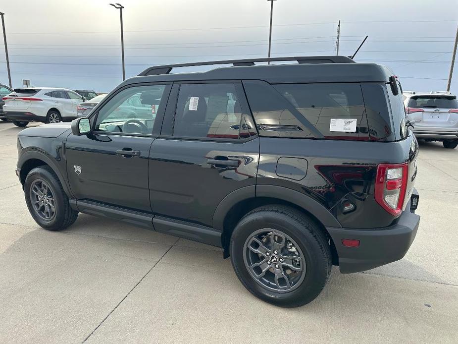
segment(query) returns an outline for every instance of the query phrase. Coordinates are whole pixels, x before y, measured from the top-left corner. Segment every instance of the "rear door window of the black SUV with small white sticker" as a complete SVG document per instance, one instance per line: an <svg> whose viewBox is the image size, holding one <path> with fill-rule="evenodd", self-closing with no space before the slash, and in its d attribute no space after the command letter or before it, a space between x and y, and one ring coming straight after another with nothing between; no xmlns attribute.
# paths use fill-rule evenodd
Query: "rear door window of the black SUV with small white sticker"
<svg viewBox="0 0 458 344"><path fill-rule="evenodd" d="M182 84L173 136L238 139L241 116L234 84ZM244 123L245 129L249 126Z"/></svg>

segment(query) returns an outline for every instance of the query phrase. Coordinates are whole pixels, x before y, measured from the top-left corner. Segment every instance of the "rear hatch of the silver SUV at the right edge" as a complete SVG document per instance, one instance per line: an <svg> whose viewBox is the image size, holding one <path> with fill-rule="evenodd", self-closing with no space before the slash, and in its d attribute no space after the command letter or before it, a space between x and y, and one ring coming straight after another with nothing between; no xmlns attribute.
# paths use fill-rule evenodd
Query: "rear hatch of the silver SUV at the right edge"
<svg viewBox="0 0 458 344"><path fill-rule="evenodd" d="M418 95L407 104L410 120L416 120L415 131L456 131L458 129L458 101L452 95Z"/></svg>

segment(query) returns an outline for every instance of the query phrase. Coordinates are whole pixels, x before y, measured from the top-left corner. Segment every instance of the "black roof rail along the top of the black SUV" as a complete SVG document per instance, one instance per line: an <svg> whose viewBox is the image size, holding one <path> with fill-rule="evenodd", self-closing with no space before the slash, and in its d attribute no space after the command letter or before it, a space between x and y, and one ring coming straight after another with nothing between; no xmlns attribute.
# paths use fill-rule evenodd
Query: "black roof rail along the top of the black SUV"
<svg viewBox="0 0 458 344"><path fill-rule="evenodd" d="M191 62L178 64L165 64L153 66L145 69L138 76L169 74L176 67L203 66L210 64L232 64L237 66L254 66L254 62L274 62L274 61L298 61L299 63L350 63L355 62L353 59L346 56L298 56L298 57L265 57L265 58L248 58L248 59L232 59L221 61L205 61Z"/></svg>

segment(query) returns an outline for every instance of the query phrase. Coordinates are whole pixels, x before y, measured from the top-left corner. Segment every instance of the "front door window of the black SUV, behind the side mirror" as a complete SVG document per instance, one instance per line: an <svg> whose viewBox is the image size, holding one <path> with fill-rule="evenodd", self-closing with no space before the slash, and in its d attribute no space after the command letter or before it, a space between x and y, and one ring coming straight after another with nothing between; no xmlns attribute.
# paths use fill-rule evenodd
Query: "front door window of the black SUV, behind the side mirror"
<svg viewBox="0 0 458 344"><path fill-rule="evenodd" d="M111 98L99 111L96 131L151 134L165 85L137 86Z"/></svg>

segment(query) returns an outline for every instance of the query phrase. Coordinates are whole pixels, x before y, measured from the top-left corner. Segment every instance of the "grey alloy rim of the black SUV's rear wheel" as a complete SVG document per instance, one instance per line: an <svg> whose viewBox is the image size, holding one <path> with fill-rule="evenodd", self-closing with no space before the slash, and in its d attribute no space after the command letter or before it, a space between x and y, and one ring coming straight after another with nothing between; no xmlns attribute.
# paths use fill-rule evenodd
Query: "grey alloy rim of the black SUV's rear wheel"
<svg viewBox="0 0 458 344"><path fill-rule="evenodd" d="M277 229L259 229L245 241L243 259L254 281L276 292L289 292L304 281L306 264L299 245Z"/></svg>

